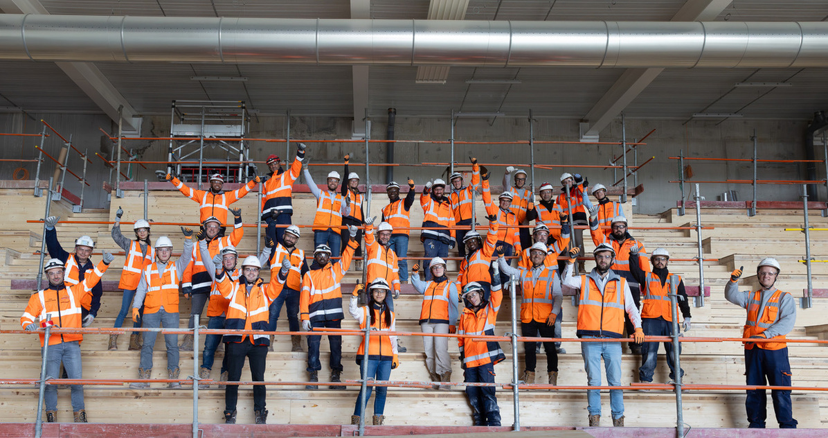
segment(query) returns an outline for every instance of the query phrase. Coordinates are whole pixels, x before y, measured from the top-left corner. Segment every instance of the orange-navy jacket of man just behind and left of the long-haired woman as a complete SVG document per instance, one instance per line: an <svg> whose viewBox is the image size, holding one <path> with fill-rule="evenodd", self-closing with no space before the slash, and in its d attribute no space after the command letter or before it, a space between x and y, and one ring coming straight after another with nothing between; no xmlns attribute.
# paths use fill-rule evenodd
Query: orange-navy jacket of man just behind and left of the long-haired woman
<svg viewBox="0 0 828 438"><path fill-rule="evenodd" d="M302 290L299 294L302 321L315 323L343 319L340 283L348 271L357 246L356 241L348 241L338 262L329 261L322 267L314 264L302 277Z"/></svg>

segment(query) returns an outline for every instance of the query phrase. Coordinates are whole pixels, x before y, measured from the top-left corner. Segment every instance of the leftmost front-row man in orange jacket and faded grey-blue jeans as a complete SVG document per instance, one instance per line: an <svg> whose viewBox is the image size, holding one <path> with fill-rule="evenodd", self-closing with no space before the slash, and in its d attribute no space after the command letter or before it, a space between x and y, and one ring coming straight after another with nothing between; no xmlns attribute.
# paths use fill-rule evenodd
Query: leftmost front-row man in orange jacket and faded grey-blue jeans
<svg viewBox="0 0 828 438"><path fill-rule="evenodd" d="M66 285L64 281L65 265L63 261L51 259L43 266L49 287L38 290L29 297L26 310L20 318L20 325L27 332L40 331L41 325L51 324L62 328L80 328L82 323L80 309L89 309L92 305L92 289L98 284L101 276L107 270L115 257L104 251L102 261L87 273L77 285ZM38 324L39 321L41 324ZM45 325L44 325L45 327ZM70 379L83 377L80 361L80 341L84 335L78 333L51 333L49 339L45 334L40 335L41 348L48 343L46 349L46 378L60 377L60 363ZM42 351L42 350L41 350ZM57 421L57 385L46 385L43 400L46 404L46 422ZM85 423L86 410L84 406L83 385L71 385L72 411L75 413L76 423Z"/></svg>

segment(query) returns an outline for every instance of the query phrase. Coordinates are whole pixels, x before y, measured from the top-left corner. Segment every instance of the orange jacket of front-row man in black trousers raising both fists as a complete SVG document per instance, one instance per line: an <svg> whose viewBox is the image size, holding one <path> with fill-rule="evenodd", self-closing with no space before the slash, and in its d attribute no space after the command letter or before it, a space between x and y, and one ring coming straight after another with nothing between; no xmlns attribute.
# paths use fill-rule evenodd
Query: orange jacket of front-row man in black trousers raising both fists
<svg viewBox="0 0 828 438"><path fill-rule="evenodd" d="M259 330L267 331L270 311L268 307L273 299L282 291L285 277L274 275L270 283L258 279L251 285L248 292L247 279L242 275L238 280L231 280L221 270L216 274L215 281L219 292L229 300L227 318L224 319L224 328L230 330ZM225 334L225 343L249 342L254 345L270 345L270 336L267 334Z"/></svg>

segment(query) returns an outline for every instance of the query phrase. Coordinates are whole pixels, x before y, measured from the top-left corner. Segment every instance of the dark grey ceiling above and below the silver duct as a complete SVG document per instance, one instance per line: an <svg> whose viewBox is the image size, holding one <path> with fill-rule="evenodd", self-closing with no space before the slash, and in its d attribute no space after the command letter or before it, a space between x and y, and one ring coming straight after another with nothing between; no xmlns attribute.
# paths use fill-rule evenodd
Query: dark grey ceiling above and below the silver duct
<svg viewBox="0 0 828 438"><path fill-rule="evenodd" d="M430 0L0 0L7 13L34 5L51 15L156 17L426 19L430 4ZM694 19L686 11L700 13L705 7L707 16L701 17L714 17L710 21L828 18L828 0L469 0L465 19L667 22L676 17ZM448 69L445 84L422 84L416 83L416 66L65 64L0 62L0 110L111 115L113 108L124 105L134 114L151 115L169 114L171 100L244 100L258 114L290 110L293 115L341 116L354 118L356 126L363 119L356 113L363 108L372 116L383 116L388 107L395 107L402 117L445 117L460 110L521 118L532 109L538 118L582 119L600 130L599 119L604 123L622 110L628 117L652 119L691 119L696 113L810 119L814 111L828 107L828 69L820 68L628 71L455 66ZM193 76L247 80L193 80ZM739 82L791 85L734 87Z"/></svg>

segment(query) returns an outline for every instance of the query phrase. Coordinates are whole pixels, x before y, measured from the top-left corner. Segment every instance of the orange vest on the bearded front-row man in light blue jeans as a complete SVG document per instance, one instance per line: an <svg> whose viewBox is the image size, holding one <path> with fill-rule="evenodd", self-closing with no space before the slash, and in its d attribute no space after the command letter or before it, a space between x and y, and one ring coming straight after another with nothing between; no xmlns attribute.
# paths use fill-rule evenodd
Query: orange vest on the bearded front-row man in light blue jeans
<svg viewBox="0 0 828 438"><path fill-rule="evenodd" d="M623 277L608 280L604 294L589 275L580 276L580 300L578 301L578 324L575 332L604 338L623 336L624 284Z"/></svg>

